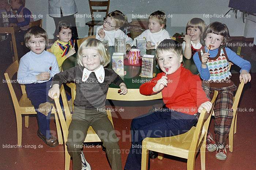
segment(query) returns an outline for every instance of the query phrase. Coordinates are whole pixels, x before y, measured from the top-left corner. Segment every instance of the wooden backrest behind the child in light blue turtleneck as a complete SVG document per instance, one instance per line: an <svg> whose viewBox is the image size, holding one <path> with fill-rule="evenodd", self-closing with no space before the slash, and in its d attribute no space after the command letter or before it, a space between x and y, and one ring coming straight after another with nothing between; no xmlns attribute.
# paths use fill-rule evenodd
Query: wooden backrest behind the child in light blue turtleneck
<svg viewBox="0 0 256 170"><path fill-rule="evenodd" d="M18 102L18 99L17 99L17 96L15 94L15 91L14 91L14 88L12 87L12 77L14 76L15 73L17 73L19 69L19 63L18 61L16 60L15 62L13 62L8 68L7 70L5 71L4 73L4 76L5 76L5 79L6 79L6 82L7 82L7 85L8 85L8 88L10 90L10 93L11 93L11 97L12 97L12 102L14 104L14 108L15 108L15 112L16 114L19 113L19 102ZM18 82L16 82L18 83ZM24 86L24 85L23 85ZM25 91L25 88L24 88L24 91ZM23 93L23 89L22 89L22 93Z"/></svg>

